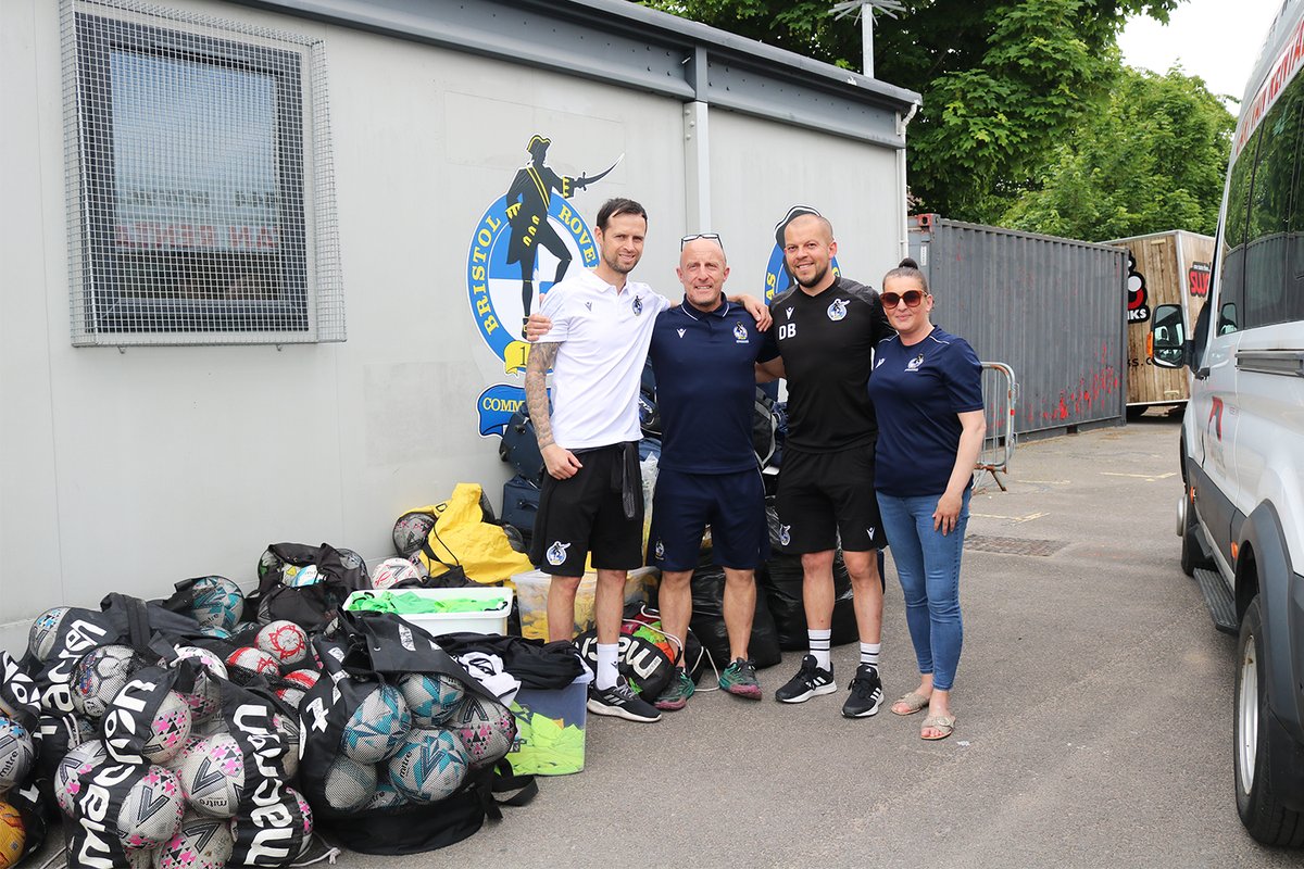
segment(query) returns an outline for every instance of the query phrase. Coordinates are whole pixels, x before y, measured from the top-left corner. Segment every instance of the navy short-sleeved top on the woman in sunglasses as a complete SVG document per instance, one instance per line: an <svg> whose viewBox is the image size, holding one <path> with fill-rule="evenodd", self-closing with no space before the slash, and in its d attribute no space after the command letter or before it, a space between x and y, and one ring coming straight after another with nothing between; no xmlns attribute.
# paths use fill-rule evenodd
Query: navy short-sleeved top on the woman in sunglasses
<svg viewBox="0 0 1304 869"><path fill-rule="evenodd" d="M982 362L962 337L934 327L906 347L879 341L870 378L879 416L874 487L895 498L941 495L960 451L960 417L982 410Z"/></svg>

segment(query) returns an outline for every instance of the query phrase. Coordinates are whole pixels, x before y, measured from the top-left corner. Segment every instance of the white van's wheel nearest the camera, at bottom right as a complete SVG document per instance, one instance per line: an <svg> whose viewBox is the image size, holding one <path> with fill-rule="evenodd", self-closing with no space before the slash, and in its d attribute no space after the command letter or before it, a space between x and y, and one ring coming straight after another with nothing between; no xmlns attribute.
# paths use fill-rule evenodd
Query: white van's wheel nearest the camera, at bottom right
<svg viewBox="0 0 1304 869"><path fill-rule="evenodd" d="M1236 769L1236 813L1258 842L1304 844L1304 817L1284 808L1271 792L1273 760L1267 745L1267 674L1264 668L1264 614L1256 595L1240 623L1236 644L1236 714L1232 747Z"/></svg>

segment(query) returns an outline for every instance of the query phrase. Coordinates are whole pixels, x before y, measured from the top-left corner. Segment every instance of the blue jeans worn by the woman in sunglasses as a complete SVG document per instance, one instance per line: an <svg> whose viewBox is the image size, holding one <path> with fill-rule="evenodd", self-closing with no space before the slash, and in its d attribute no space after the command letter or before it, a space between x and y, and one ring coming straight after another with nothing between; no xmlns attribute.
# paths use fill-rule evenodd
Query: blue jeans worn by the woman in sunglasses
<svg viewBox="0 0 1304 869"><path fill-rule="evenodd" d="M879 492L879 513L905 593L905 620L919 672L932 674L932 687L938 691L951 691L964 644L960 555L969 524L969 491L961 502L956 528L945 535L932 528L939 498L895 498Z"/></svg>

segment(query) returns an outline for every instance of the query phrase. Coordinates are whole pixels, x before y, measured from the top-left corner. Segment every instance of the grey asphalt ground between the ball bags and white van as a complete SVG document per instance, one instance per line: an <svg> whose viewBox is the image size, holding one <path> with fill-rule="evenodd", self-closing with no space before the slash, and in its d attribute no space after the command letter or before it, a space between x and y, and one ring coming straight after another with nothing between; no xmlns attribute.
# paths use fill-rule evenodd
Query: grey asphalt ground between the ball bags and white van
<svg viewBox="0 0 1304 869"><path fill-rule="evenodd" d="M1231 637L1178 567L1176 416L1021 444L975 490L956 732L922 715L699 693L660 723L589 717L587 769L416 866L1296 866L1232 797ZM994 551L995 550L995 551ZM1030 552L1043 554L1030 554ZM917 684L888 560L887 697ZM40 865L38 861L35 865Z"/></svg>

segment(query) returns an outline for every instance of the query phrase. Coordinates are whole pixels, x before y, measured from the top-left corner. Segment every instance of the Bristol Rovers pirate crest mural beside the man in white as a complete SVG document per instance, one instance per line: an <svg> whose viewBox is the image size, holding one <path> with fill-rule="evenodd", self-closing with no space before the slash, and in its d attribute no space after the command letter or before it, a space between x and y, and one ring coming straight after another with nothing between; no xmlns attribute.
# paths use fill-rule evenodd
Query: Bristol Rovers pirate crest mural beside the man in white
<svg viewBox="0 0 1304 869"><path fill-rule="evenodd" d="M558 175L548 165L552 139L536 134L526 146L529 163L516 171L507 192L485 210L467 254L467 292L480 336L502 360L503 374L526 370L529 345L524 324L539 298L570 268L597 264L593 233L571 198L601 181L623 154L595 175ZM480 393L480 434L501 435L526 400L516 383Z"/></svg>

